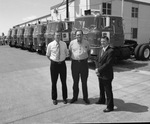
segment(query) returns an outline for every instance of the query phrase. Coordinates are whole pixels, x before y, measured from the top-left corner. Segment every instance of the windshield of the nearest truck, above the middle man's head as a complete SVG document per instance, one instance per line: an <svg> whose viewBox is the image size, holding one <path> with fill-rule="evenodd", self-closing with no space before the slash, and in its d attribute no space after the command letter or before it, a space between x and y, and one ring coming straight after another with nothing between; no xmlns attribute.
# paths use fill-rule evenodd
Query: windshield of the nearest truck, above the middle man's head
<svg viewBox="0 0 150 124"><path fill-rule="evenodd" d="M94 17L83 17L75 20L74 29L90 29L95 27Z"/></svg>

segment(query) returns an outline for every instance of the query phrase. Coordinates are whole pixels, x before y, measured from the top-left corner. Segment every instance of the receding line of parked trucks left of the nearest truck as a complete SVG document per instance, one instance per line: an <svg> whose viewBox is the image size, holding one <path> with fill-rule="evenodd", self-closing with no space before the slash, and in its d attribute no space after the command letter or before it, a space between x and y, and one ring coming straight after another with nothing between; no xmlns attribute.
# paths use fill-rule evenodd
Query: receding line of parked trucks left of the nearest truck
<svg viewBox="0 0 150 124"><path fill-rule="evenodd" d="M47 21L28 26L15 26L8 31L10 47L19 47L45 54L48 43L54 40L54 32L62 33L62 40L69 45L72 21Z"/></svg>

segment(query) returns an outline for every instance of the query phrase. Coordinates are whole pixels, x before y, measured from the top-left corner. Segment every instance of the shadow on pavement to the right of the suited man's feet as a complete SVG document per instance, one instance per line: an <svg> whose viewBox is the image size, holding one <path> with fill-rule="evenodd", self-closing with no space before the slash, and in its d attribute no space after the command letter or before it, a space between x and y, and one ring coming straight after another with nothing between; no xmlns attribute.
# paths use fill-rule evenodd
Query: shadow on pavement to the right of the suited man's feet
<svg viewBox="0 0 150 124"><path fill-rule="evenodd" d="M137 103L125 103L122 99L114 99L115 111L127 111L134 113L148 112L148 107Z"/></svg>

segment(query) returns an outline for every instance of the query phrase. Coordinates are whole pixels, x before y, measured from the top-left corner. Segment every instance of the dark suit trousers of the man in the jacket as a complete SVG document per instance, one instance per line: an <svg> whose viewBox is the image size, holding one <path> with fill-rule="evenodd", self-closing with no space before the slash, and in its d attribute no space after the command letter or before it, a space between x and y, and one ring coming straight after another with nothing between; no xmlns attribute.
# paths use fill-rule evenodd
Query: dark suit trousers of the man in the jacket
<svg viewBox="0 0 150 124"><path fill-rule="evenodd" d="M114 108L113 92L112 92L112 79L104 80L99 78L99 89L100 89L100 98L99 100L105 102L105 93L107 97L107 108Z"/></svg>

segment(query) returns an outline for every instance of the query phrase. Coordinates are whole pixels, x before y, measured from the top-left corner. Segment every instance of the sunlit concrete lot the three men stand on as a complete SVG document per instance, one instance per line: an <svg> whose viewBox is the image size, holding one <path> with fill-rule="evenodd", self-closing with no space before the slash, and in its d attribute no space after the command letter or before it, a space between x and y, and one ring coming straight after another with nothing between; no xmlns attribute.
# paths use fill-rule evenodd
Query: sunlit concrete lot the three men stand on
<svg viewBox="0 0 150 124"><path fill-rule="evenodd" d="M72 98L72 77L67 62L68 100ZM45 56L9 46L0 46L0 124L120 123L150 122L150 61L127 60L114 67L115 111L103 113L96 105L98 79L90 66L90 105L84 104L80 85L75 104L62 103L58 80L58 105L51 100L49 61Z"/></svg>

